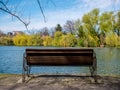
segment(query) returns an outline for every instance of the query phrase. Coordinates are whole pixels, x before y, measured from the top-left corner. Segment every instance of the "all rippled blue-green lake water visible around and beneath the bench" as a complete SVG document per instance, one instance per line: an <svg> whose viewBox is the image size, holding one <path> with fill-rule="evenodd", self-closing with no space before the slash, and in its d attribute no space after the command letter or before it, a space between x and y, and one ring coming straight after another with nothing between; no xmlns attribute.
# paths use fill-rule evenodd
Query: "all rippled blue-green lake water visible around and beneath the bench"
<svg viewBox="0 0 120 90"><path fill-rule="evenodd" d="M21 74L23 53L28 47L0 46L0 73ZM35 48L35 47L32 47ZM43 48L43 47L37 47ZM94 48L97 56L97 73L120 75L120 48ZM32 73L89 74L88 67L33 67Z"/></svg>

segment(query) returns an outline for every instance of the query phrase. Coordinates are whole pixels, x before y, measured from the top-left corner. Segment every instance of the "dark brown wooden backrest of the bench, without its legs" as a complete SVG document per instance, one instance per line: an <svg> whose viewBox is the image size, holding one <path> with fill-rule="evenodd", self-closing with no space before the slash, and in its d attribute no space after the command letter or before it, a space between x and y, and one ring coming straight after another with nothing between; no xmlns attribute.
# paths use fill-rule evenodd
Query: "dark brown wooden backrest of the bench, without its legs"
<svg viewBox="0 0 120 90"><path fill-rule="evenodd" d="M93 65L93 49L26 49L27 65Z"/></svg>

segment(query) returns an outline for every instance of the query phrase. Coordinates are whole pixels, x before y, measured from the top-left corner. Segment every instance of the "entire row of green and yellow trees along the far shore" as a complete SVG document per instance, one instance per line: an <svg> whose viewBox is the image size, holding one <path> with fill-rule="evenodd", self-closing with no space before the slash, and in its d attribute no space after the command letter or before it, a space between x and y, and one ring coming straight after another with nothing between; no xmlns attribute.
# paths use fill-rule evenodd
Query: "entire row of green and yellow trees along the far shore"
<svg viewBox="0 0 120 90"><path fill-rule="evenodd" d="M32 33L1 35L0 45L120 47L120 11L100 13L99 9L93 9L81 20L68 20L53 30L46 27Z"/></svg>

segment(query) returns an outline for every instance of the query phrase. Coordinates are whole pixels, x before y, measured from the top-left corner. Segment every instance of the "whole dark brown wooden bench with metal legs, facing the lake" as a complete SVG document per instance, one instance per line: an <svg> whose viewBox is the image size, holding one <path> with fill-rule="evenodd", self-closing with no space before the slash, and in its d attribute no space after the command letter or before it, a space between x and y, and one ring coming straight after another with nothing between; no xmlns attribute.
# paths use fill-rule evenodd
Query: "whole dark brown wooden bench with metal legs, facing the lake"
<svg viewBox="0 0 120 90"><path fill-rule="evenodd" d="M88 66L97 81L97 60L94 50L89 48L28 48L23 56L23 82L32 66Z"/></svg>

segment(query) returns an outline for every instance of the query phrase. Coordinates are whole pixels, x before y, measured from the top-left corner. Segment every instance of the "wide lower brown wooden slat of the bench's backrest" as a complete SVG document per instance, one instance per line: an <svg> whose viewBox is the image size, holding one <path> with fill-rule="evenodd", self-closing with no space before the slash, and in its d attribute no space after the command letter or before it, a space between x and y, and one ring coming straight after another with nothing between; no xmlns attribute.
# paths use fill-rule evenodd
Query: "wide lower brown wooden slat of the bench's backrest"
<svg viewBox="0 0 120 90"><path fill-rule="evenodd" d="M91 56L32 56L29 65L92 65Z"/></svg>

